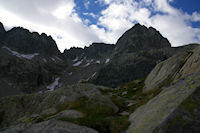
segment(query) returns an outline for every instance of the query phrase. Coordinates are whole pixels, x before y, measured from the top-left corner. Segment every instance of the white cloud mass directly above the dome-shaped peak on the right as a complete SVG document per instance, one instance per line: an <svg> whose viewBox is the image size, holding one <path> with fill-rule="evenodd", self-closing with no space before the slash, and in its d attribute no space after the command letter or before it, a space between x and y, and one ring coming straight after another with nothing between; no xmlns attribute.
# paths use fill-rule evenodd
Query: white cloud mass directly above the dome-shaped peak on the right
<svg viewBox="0 0 200 133"><path fill-rule="evenodd" d="M112 32L113 38L120 37L124 31L139 22L158 29L172 46L200 43L200 28L191 27L191 21L200 21L199 13L186 15L170 5L173 0L99 1L108 4L108 7L102 11L98 24L108 29L107 32Z"/></svg>

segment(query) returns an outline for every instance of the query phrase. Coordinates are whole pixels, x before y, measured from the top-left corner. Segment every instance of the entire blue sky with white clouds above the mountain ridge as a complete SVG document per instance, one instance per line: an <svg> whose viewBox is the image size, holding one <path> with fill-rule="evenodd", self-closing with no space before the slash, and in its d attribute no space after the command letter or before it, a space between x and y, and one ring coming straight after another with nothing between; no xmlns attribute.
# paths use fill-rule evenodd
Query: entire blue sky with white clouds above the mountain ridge
<svg viewBox="0 0 200 133"><path fill-rule="evenodd" d="M0 0L0 21L45 32L63 51L116 43L134 24L152 26L172 46L200 43L200 0Z"/></svg>

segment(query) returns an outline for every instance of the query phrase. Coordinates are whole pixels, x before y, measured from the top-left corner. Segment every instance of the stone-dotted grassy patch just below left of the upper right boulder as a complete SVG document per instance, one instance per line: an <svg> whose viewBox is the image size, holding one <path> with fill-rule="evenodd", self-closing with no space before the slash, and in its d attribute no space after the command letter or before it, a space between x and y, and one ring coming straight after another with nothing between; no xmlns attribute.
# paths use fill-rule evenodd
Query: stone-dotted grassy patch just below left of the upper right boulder
<svg viewBox="0 0 200 133"><path fill-rule="evenodd" d="M146 104L150 99L161 92L161 89L155 89L148 93L143 93L143 87L144 79L123 84L116 90L101 90L101 92L107 95L112 94L110 96L111 100L119 107L120 111L125 110L132 113L135 109ZM123 92L126 93L123 94ZM127 107L127 100L134 101L134 104Z"/></svg>

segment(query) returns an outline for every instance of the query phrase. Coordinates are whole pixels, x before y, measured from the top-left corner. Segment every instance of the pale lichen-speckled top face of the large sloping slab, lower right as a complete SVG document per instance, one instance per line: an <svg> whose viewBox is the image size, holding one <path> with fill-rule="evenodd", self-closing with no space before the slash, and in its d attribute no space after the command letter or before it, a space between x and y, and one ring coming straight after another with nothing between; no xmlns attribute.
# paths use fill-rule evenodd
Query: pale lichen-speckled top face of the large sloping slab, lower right
<svg viewBox="0 0 200 133"><path fill-rule="evenodd" d="M195 92L199 90L199 87L200 72L184 77L173 83L170 87L164 88L158 96L151 99L147 104L139 107L130 115L129 120L131 122L131 126L128 131L130 133L152 133L157 127L166 122L168 118L176 112L176 109L181 106L182 102L187 100L191 95L195 94ZM197 104L191 104L196 107L198 106ZM190 115L193 115L193 113L190 113L189 116ZM198 113L195 115L198 116ZM191 117L188 119L190 118ZM185 119L187 120L187 118ZM176 126L175 124L179 122L181 123L181 121L176 120L175 123L170 123L170 125ZM184 123L180 125L183 124ZM188 124L190 124L190 122ZM189 125L187 125L187 127L188 126ZM160 129L162 128L159 128L159 131L162 131ZM171 129L168 131L170 130Z"/></svg>

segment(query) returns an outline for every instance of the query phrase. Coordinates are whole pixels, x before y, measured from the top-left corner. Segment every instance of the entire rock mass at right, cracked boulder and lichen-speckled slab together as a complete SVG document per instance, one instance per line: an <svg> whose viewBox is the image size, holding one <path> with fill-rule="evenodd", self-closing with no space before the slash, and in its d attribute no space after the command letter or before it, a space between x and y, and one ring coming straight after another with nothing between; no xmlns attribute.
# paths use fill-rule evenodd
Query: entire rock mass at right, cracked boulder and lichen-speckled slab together
<svg viewBox="0 0 200 133"><path fill-rule="evenodd" d="M150 85L150 90L161 87L162 91L130 115L129 120L132 124L129 132L200 131L199 105L197 103L200 88L199 48L161 62L150 73L145 81L145 89ZM178 66L171 63L177 63ZM168 80L170 80L168 87L165 87Z"/></svg>

